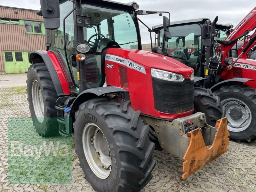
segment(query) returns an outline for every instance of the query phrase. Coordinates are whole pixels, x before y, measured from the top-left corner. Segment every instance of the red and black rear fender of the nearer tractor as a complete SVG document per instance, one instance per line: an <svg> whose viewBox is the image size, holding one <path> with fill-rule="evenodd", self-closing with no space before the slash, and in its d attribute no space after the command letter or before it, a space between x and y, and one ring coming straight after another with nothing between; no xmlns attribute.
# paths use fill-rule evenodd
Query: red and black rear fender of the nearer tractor
<svg viewBox="0 0 256 192"><path fill-rule="evenodd" d="M46 51L32 51L29 56L30 63L44 62L58 96L70 95L68 81L56 55Z"/></svg>

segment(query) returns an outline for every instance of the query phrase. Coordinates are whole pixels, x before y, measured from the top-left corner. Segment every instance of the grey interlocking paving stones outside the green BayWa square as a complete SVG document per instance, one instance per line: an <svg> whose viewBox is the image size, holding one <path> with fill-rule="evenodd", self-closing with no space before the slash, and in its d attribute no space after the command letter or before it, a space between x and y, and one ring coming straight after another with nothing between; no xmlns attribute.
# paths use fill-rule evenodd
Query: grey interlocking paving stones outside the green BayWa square
<svg viewBox="0 0 256 192"><path fill-rule="evenodd" d="M0 89L0 192L5 191L93 191L84 179L73 149L72 185L7 184L7 118L30 117L26 88ZM163 151L155 151L153 178L141 191L256 191L256 141L230 141L229 151L183 180L182 162Z"/></svg>

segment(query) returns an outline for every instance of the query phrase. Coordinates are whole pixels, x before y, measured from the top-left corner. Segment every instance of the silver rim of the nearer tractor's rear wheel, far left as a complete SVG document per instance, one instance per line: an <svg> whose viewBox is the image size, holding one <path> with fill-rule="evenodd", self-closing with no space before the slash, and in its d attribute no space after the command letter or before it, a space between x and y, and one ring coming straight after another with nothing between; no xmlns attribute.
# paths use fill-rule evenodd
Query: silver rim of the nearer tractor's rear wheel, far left
<svg viewBox="0 0 256 192"><path fill-rule="evenodd" d="M44 121L44 101L38 81L32 83L32 102L37 120L42 123Z"/></svg>

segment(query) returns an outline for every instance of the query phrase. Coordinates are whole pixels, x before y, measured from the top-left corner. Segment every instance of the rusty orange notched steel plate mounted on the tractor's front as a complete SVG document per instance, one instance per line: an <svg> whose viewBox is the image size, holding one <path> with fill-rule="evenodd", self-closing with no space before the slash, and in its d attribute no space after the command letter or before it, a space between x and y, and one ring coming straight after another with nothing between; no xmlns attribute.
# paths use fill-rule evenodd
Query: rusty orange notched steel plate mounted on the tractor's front
<svg viewBox="0 0 256 192"><path fill-rule="evenodd" d="M183 157L185 161L183 162L183 179L228 151L229 132L227 122L227 117L216 122L215 127L217 128L217 132L212 145L209 146L205 146L200 128L187 133L189 145Z"/></svg>

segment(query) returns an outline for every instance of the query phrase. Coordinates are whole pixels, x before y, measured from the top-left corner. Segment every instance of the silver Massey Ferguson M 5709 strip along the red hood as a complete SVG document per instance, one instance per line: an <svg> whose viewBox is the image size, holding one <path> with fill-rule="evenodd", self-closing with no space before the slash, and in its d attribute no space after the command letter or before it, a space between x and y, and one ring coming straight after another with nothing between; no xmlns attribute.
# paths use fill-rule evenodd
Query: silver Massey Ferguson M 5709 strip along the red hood
<svg viewBox="0 0 256 192"><path fill-rule="evenodd" d="M132 60L125 59L125 58L122 58L122 57L119 57L116 55L110 55L110 54L106 54L106 60L125 65L128 68L131 68L131 69L134 69L136 71L146 74L145 68L143 66L141 66L140 64L135 63Z"/></svg>

